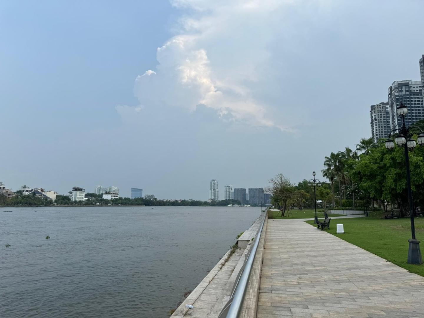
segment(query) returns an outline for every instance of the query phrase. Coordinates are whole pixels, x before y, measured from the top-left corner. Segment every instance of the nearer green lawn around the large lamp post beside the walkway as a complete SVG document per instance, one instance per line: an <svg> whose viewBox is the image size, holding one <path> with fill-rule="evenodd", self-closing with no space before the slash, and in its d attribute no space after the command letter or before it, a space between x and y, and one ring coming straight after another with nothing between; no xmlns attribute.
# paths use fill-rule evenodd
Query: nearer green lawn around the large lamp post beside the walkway
<svg viewBox="0 0 424 318"><path fill-rule="evenodd" d="M368 218L337 219L330 222L327 231L341 239L359 246L373 254L406 268L412 273L424 276L424 265L407 263L408 240L411 238L410 218L380 220L385 213L370 212ZM305 221L316 226L314 221ZM344 234L336 233L336 224L344 226ZM415 231L418 240L424 240L424 218L415 218ZM421 244L421 250L424 249Z"/></svg>

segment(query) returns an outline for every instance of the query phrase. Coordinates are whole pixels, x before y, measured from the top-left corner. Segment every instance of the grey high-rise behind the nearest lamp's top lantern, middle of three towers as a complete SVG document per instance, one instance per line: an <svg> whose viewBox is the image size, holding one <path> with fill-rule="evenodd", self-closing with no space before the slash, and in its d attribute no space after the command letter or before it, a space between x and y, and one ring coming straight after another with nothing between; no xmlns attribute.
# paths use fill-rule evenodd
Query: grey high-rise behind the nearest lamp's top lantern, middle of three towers
<svg viewBox="0 0 424 318"><path fill-rule="evenodd" d="M396 112L400 103L403 103L408 109L408 114L405 117L405 124L407 126L424 119L421 81L394 81L388 88L388 101L392 129L399 128L402 125L402 117L398 116Z"/></svg>

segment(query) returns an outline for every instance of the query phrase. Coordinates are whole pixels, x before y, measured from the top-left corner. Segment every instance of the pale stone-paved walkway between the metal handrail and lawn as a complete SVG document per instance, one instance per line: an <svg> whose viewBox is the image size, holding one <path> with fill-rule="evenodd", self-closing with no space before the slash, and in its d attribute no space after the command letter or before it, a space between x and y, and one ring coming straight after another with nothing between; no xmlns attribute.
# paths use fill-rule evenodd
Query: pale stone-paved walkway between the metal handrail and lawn
<svg viewBox="0 0 424 318"><path fill-rule="evenodd" d="M424 317L424 277L303 220L268 220L257 318L287 316Z"/></svg>

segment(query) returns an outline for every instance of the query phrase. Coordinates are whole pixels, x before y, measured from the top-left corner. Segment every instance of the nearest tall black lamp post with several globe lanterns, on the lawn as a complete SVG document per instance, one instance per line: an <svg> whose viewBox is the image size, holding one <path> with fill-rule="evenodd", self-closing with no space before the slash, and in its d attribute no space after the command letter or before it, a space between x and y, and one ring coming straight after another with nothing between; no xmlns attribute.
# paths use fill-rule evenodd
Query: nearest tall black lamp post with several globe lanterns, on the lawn
<svg viewBox="0 0 424 318"><path fill-rule="evenodd" d="M409 242L409 250L408 250L408 264L422 264L423 260L421 258L421 250L420 250L420 241L418 241L415 237L415 223L414 223L414 208L413 208L413 201L412 201L412 190L411 190L411 175L409 170L409 155L408 150L413 151L416 147L416 142L411 137L413 134L410 132L410 128L418 128L421 131L421 134L419 134L417 141L420 146L424 145L424 133L421 130L421 128L417 126L409 126L407 127L405 125L405 117L408 113L408 109L406 106L404 106L403 103L399 105L397 108L397 114L402 117L402 126L397 129L393 129L388 139L386 140L386 148L388 150L393 150L395 148L395 143L399 147L404 147L405 150L405 162L406 162L406 181L408 186L408 199L409 199L409 215L411 219L411 234L412 239L408 240ZM394 136L395 141L390 138L391 134L396 132L396 136Z"/></svg>

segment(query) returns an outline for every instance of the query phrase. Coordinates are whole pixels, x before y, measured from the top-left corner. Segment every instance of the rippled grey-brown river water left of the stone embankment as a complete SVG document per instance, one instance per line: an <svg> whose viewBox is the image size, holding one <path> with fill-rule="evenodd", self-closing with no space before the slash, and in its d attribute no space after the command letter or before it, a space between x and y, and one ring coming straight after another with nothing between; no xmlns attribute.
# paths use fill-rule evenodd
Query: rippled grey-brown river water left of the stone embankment
<svg viewBox="0 0 424 318"><path fill-rule="evenodd" d="M247 207L0 207L0 317L169 317L258 216Z"/></svg>

